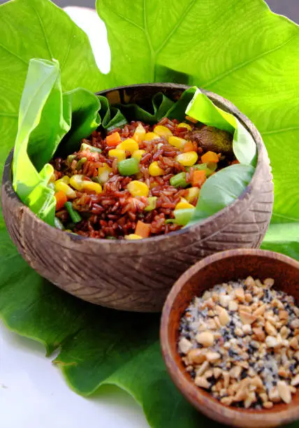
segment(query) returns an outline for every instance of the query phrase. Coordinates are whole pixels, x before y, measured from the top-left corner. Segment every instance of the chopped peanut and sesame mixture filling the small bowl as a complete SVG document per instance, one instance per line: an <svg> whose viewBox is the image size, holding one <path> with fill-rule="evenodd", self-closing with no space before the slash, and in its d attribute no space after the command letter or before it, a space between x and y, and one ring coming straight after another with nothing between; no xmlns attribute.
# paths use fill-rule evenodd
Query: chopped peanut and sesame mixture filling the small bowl
<svg viewBox="0 0 299 428"><path fill-rule="evenodd" d="M215 285L180 324L187 371L226 406L272 408L299 386L299 308L267 278Z"/></svg>

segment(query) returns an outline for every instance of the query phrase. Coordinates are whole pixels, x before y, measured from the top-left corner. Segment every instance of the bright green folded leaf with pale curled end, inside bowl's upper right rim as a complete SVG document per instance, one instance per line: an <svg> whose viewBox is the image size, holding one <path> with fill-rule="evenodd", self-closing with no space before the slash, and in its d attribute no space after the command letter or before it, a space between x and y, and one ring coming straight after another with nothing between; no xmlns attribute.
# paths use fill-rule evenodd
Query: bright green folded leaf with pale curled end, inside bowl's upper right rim
<svg viewBox="0 0 299 428"><path fill-rule="evenodd" d="M256 143L247 129L231 113L215 106L200 90L196 89L186 113L204 124L233 134L233 152L240 164L256 165Z"/></svg>

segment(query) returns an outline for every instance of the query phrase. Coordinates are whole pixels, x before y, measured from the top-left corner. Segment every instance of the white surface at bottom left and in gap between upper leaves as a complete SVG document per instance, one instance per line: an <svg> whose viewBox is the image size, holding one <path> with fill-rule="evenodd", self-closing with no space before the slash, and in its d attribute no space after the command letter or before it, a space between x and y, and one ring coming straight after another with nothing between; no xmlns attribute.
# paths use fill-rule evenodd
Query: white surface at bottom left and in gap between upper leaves
<svg viewBox="0 0 299 428"><path fill-rule="evenodd" d="M99 69L108 73L105 26L93 10L66 8L94 47ZM101 43L100 43L101 40ZM99 50L101 46L101 52ZM86 399L71 391L39 343L8 331L0 321L1 428L147 428L143 411L117 387L104 386Z"/></svg>

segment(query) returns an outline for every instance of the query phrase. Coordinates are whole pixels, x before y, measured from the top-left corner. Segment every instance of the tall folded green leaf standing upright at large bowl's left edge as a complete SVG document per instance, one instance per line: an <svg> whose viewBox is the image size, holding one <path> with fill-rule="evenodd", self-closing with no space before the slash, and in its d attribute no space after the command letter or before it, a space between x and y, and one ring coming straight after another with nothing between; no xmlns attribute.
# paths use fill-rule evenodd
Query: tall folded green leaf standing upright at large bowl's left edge
<svg viewBox="0 0 299 428"><path fill-rule="evenodd" d="M54 191L46 184L53 167L47 162L57 150L61 137L70 129L64 113L58 62L31 59L20 104L13 187L24 204L52 225ZM69 121L70 117L67 119Z"/></svg>

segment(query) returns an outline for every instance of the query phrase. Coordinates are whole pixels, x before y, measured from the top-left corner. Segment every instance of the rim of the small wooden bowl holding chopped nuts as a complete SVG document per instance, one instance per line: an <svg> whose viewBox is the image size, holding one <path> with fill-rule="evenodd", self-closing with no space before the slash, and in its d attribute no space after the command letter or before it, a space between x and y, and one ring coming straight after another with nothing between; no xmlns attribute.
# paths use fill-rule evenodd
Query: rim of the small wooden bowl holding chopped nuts
<svg viewBox="0 0 299 428"><path fill-rule="evenodd" d="M207 256L204 259L201 259L199 262L196 262L196 264L187 269L187 271L185 271L182 276L177 279L164 303L160 325L160 343L162 355L173 383L175 383L184 397L186 397L188 401L198 409L198 411L200 411L198 404L201 403L204 404L204 406L207 408L209 416L214 414L214 420L225 423L226 425L236 427L277 427L280 425L280 423L287 423L295 419L299 419L299 404L295 408L288 408L288 406L286 406L286 408L283 408L278 412L273 411L275 409L275 405L272 409L261 409L258 411L255 411L254 409L224 406L224 404L221 404L220 401L212 397L209 392L205 392L204 390L196 387L194 382L188 378L186 372L180 369L180 367L175 363L175 355L177 355L177 350L175 350L175 353L173 353L169 341L168 321L170 318L170 313L173 310L173 304L175 303L175 300L177 299L180 292L182 292L182 289L186 285L189 278L194 276L209 264L242 255L256 255L258 257L270 258L273 260L273 263L277 261L283 262L286 264L286 266L292 266L299 270L299 262L289 256L282 255L278 252L258 250L254 248L225 250L214 253L213 255ZM186 302L186 307L189 303L190 301ZM212 418L212 416L210 416L210 418Z"/></svg>

